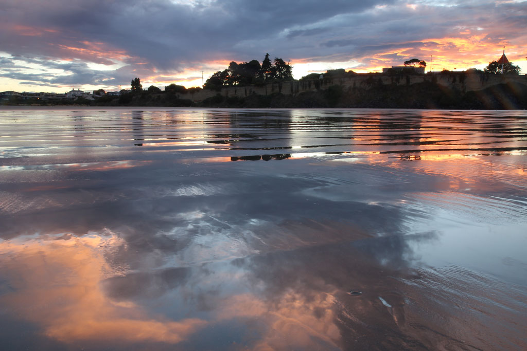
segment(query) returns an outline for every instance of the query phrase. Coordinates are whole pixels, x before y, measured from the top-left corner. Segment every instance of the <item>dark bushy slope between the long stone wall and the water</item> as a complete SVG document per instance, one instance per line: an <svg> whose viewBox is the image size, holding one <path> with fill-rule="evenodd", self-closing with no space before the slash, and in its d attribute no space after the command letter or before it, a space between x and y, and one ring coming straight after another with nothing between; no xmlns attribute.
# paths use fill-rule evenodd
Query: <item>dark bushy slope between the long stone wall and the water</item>
<svg viewBox="0 0 527 351"><path fill-rule="evenodd" d="M481 91L461 92L435 82L386 85L372 79L360 87L329 85L297 95L247 97L216 95L200 107L228 108L416 108L416 109L527 109L527 85L499 84Z"/></svg>

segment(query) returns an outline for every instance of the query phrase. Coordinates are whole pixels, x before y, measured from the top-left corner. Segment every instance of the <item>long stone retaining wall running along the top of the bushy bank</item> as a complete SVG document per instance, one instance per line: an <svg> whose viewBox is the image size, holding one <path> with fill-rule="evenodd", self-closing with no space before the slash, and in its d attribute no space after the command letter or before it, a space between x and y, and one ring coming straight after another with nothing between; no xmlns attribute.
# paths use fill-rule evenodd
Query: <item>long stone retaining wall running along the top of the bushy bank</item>
<svg viewBox="0 0 527 351"><path fill-rule="evenodd" d="M422 82L436 82L439 85L455 88L461 92L477 91L501 83L521 83L527 85L527 75L482 75L477 73L448 72L425 75L383 75L383 74L357 74L346 77L330 77L324 79L307 79L303 81L290 81L272 83L262 86L228 86L220 91L203 89L193 94L181 94L180 98L200 102L218 94L225 97L247 97L252 94L269 95L281 93L295 95L301 92L324 90L332 85L343 88L369 88L378 84L412 85Z"/></svg>

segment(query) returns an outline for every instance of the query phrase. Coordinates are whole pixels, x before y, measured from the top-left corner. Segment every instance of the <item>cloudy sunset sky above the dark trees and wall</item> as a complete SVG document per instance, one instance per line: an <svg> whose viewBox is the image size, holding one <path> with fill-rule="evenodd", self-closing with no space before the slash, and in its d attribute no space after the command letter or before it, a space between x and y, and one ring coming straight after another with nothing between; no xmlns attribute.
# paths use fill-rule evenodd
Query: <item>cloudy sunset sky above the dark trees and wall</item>
<svg viewBox="0 0 527 351"><path fill-rule="evenodd" d="M344 68L527 73L527 0L2 0L0 92L201 86L265 54L296 79ZM432 65L430 63L432 58Z"/></svg>

